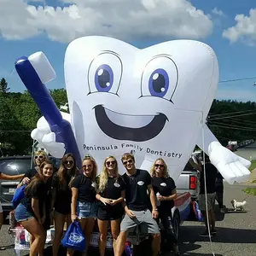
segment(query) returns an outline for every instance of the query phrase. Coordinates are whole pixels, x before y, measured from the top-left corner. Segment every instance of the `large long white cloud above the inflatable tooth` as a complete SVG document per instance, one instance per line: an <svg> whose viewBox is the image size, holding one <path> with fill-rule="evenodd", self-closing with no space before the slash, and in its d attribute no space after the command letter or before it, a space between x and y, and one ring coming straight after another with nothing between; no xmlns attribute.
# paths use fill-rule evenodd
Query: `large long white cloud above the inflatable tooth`
<svg viewBox="0 0 256 256"><path fill-rule="evenodd" d="M29 3L0 0L0 36L24 39L45 33L67 43L85 35L200 39L212 32L212 20L189 0L62 0L69 4L64 8Z"/></svg>

